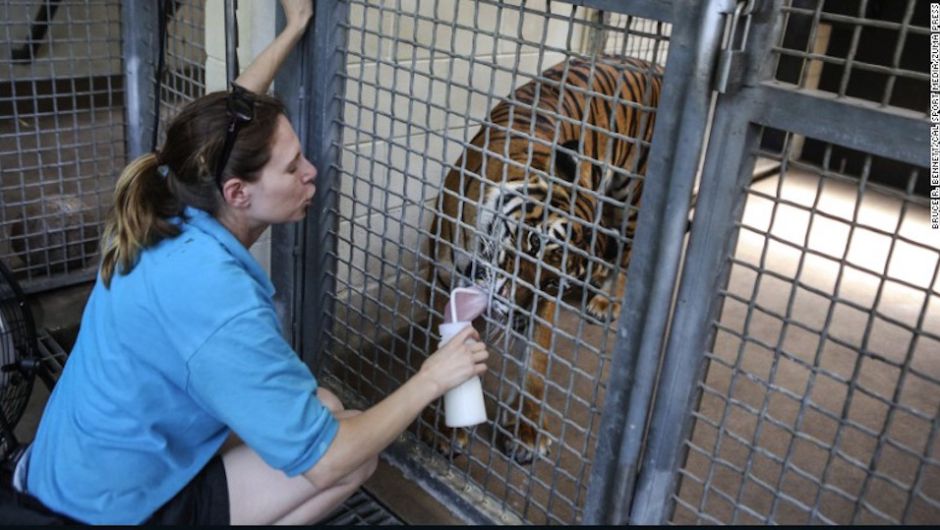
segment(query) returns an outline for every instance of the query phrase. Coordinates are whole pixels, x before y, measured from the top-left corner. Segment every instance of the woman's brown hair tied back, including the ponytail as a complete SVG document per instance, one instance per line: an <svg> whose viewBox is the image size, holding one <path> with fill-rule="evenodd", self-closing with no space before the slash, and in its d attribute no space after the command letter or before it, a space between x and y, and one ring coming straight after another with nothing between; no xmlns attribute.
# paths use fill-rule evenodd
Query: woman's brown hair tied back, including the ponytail
<svg viewBox="0 0 940 530"><path fill-rule="evenodd" d="M254 94L254 117L238 131L222 177L216 180L213 168L232 119L226 97L226 92L214 92L186 105L170 123L163 149L137 158L121 172L102 239L101 278L106 287L115 272L127 274L134 268L143 249L179 235L173 219L181 217L186 206L215 215L223 201L221 183L235 176L253 182L270 160L278 116L286 115L285 109L275 98ZM160 166L168 171L158 171Z"/></svg>

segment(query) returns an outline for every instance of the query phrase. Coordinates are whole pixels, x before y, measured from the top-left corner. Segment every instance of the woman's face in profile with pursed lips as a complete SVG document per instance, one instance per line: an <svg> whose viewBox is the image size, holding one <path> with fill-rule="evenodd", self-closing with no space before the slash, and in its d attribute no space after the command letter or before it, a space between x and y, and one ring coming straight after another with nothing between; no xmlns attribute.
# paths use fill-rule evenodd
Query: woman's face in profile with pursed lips
<svg viewBox="0 0 940 530"><path fill-rule="evenodd" d="M307 213L313 195L317 168L303 155L300 140L284 116L278 117L271 144L271 159L250 183L250 215L266 224L299 221Z"/></svg>

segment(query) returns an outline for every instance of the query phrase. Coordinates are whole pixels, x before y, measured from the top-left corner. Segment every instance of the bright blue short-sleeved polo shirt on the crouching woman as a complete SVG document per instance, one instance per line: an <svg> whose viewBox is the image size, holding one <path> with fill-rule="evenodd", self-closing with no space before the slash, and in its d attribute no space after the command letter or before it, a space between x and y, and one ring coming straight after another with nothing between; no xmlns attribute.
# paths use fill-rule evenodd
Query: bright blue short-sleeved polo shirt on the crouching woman
<svg viewBox="0 0 940 530"><path fill-rule="evenodd" d="M274 287L212 216L98 278L33 442L28 491L95 524L144 521L230 430L271 467L310 469L338 423L280 334Z"/></svg>

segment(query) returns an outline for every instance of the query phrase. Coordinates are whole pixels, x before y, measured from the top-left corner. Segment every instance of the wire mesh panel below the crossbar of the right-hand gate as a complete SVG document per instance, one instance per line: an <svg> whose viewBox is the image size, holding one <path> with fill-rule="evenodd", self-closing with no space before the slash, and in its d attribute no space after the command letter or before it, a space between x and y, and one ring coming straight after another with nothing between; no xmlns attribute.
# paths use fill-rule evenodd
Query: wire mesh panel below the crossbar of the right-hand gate
<svg viewBox="0 0 940 530"><path fill-rule="evenodd" d="M921 168L898 189L764 152L677 495L676 522L940 520L940 240Z"/></svg>

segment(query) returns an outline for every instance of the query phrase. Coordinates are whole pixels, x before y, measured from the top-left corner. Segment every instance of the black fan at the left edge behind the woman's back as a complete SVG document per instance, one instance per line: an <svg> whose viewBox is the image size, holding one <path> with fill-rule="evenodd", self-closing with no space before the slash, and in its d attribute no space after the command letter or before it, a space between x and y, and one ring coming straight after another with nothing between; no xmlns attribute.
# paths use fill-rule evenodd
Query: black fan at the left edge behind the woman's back
<svg viewBox="0 0 940 530"><path fill-rule="evenodd" d="M0 456L4 458L19 449L13 428L41 369L32 313L13 275L0 262Z"/></svg>

